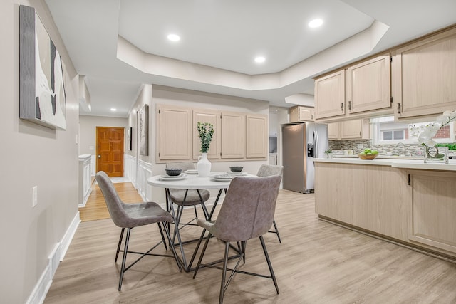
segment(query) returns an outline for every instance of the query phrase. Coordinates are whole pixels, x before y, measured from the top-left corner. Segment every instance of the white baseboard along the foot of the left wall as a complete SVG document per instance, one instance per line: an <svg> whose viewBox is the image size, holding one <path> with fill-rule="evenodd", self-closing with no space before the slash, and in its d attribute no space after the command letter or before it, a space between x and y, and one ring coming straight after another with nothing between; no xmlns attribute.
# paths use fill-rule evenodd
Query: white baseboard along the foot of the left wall
<svg viewBox="0 0 456 304"><path fill-rule="evenodd" d="M58 264L60 261L63 261L63 257L70 246L71 240L73 240L73 236L76 233L80 222L81 219L79 218L78 211L61 241L56 243L53 250L49 254L48 266L44 268L44 271L38 279L35 288L33 288L30 296L28 297L26 304L41 304L44 302L46 294L48 293L49 288L51 288L52 279L56 274Z"/></svg>

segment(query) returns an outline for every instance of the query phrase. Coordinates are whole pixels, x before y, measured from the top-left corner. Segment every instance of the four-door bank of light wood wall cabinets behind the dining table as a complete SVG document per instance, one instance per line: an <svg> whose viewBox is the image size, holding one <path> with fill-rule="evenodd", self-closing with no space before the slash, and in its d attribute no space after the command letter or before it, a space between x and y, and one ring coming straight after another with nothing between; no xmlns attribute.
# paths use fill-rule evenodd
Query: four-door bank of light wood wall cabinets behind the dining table
<svg viewBox="0 0 456 304"><path fill-rule="evenodd" d="M201 155L197 122L214 125L207 153L212 162L267 160L267 115L157 105L157 162L197 159Z"/></svg>

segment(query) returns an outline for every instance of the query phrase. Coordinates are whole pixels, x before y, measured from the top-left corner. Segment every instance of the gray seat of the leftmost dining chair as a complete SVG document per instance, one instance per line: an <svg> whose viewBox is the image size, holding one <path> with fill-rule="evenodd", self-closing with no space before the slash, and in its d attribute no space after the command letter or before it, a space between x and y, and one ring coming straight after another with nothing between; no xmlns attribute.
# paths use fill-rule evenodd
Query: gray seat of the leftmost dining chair
<svg viewBox="0 0 456 304"><path fill-rule="evenodd" d="M123 218L123 223L119 223L120 227L133 228L137 226L158 223L167 221L172 223L172 215L162 209L159 204L149 201L137 204L125 204L123 208L127 216Z"/></svg>

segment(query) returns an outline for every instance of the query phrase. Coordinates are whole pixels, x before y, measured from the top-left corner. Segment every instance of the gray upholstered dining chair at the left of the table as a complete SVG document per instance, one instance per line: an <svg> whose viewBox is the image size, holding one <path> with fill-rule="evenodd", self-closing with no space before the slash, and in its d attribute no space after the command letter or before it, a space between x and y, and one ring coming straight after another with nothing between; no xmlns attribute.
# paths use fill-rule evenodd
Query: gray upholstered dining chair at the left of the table
<svg viewBox="0 0 456 304"><path fill-rule="evenodd" d="M123 251L122 266L120 267L120 278L119 278L118 290L120 291L120 289L122 288L123 274L125 273L125 271L128 271L128 269L131 266L135 265L135 263L140 261L140 259L143 258L144 256L174 257L176 260L176 263L177 263L177 267L179 268L179 271L182 271L180 263L177 259L177 255L176 255L174 246L170 246L171 251L172 251L172 256L164 255L164 254L157 254L157 253L150 253L153 249L157 248L157 246L159 246L160 243L164 243L165 248L167 248L166 242L165 242L165 237L163 236L163 230L165 230L165 234L167 236L168 241L171 242L170 231L167 228L167 223L173 222L172 215L169 212L162 209L162 207L160 207L157 203L152 202L152 201L136 203L136 204L125 204L122 201L122 199L120 199L117 191L115 191L113 182L111 182L110 178L108 177L108 174L106 174L103 171L98 172L95 175L95 179L98 183L98 186L101 189L101 192L103 193L103 197L105 198L106 206L108 206L108 211L111 216L111 219L113 219L113 222L116 226L122 228L122 231L120 231L120 238L119 238L119 243L117 246L117 251L115 253L115 262L117 262L119 252ZM131 229L133 229L134 227L144 226L144 225L148 225L148 224L155 224L155 223L157 223L158 229L160 230L162 241L155 244L155 246L150 248L149 251L146 251L145 253L137 252L137 251L128 251L128 243L130 241ZM162 225L160 225L160 223ZM127 229L127 235L125 236L125 245L124 245L123 250L120 250L125 228ZM130 265L128 267L125 267L127 253L136 253L136 254L140 254L141 256L137 260L135 260L133 263L130 263Z"/></svg>

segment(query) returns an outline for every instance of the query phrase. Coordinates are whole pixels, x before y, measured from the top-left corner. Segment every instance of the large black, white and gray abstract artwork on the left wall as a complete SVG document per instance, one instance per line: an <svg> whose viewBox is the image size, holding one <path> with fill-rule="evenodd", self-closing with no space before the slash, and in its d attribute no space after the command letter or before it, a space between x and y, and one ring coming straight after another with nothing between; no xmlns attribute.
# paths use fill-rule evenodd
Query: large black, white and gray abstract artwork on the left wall
<svg viewBox="0 0 456 304"><path fill-rule="evenodd" d="M19 117L55 130L66 128L63 65L35 9L19 6Z"/></svg>

